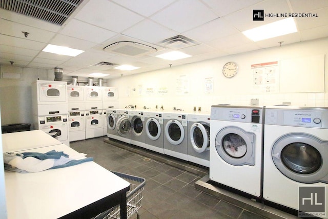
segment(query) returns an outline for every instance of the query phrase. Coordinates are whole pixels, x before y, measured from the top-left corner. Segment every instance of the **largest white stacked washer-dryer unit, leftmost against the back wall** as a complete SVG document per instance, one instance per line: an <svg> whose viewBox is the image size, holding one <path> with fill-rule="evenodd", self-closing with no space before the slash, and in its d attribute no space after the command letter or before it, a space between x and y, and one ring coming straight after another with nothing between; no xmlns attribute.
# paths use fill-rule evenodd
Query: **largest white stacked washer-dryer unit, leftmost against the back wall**
<svg viewBox="0 0 328 219"><path fill-rule="evenodd" d="M69 146L66 82L32 83L32 112L34 129L43 130Z"/></svg>

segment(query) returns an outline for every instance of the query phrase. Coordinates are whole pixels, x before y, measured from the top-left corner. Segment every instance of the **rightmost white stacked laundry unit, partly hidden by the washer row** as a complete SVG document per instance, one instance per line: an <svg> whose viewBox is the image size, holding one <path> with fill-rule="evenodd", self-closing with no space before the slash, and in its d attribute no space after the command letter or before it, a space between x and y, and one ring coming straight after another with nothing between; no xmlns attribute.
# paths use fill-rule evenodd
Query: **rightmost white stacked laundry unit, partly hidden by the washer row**
<svg viewBox="0 0 328 219"><path fill-rule="evenodd" d="M99 83L99 85L101 85L101 83ZM118 95L117 88L115 87L101 87L101 90L103 93L103 135L107 135L107 111L118 108Z"/></svg>

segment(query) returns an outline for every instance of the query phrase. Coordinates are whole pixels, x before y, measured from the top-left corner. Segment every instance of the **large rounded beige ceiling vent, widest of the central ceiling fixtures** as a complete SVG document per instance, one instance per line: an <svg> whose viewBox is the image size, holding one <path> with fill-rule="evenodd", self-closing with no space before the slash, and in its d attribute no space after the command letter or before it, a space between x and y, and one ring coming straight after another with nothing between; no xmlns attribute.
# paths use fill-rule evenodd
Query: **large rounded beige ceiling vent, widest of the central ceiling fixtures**
<svg viewBox="0 0 328 219"><path fill-rule="evenodd" d="M104 47L103 50L105 52L134 57L147 55L157 51L157 49L152 46L132 41L119 41Z"/></svg>

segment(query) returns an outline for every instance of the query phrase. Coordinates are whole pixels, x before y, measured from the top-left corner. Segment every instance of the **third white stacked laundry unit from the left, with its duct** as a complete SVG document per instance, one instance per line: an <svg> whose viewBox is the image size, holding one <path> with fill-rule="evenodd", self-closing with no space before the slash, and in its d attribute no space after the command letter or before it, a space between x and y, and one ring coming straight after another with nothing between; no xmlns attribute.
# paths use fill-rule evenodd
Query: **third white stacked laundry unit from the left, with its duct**
<svg viewBox="0 0 328 219"><path fill-rule="evenodd" d="M85 86L86 138L104 135L103 88L92 85L93 78L89 78L88 86Z"/></svg>

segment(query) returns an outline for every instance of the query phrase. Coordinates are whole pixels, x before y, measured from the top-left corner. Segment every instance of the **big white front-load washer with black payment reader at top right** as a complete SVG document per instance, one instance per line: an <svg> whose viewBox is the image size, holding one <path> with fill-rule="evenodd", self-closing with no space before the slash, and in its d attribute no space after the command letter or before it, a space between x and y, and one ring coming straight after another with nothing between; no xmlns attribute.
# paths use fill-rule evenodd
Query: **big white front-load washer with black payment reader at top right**
<svg viewBox="0 0 328 219"><path fill-rule="evenodd" d="M212 106L210 180L261 197L264 109Z"/></svg>

